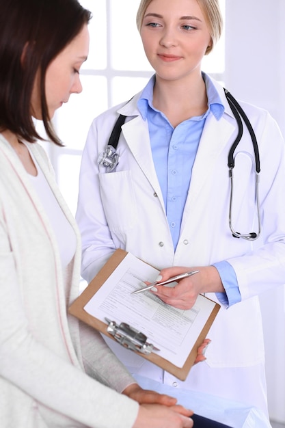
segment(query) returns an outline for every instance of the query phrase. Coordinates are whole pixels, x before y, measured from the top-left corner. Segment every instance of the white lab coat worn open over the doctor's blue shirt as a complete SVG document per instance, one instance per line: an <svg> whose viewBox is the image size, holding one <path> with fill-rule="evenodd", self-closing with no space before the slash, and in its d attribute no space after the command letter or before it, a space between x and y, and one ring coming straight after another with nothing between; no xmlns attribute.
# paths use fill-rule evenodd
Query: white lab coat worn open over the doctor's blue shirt
<svg viewBox="0 0 285 428"><path fill-rule="evenodd" d="M215 85L225 112L220 120L211 112L206 119L176 251L152 161L148 123L137 109L139 94L94 120L83 152L77 211L83 239L82 275L88 282L92 280L116 248L123 248L159 269L172 265L206 266L227 260L236 273L242 301L230 308L222 306L208 333L212 343L204 364L212 369L246 367L248 371L250 366L260 367L264 363L258 294L285 282L284 142L267 111L241 103L254 127L260 150L262 235L256 241L232 237L228 225L228 152L237 125L223 88ZM127 116L117 150L120 161L115 172L106 174L105 167L98 166L98 154L105 150L119 113ZM235 165L233 226L241 233L256 232L254 150L247 129L236 149ZM187 159L181 168L187 174ZM217 301L213 293L208 297ZM129 360L126 364L133 373L160 380L164 376L165 382L167 374L156 377L159 369L150 369L150 363L141 366L134 361L133 353L125 352ZM199 370L204 364L198 364ZM183 388L195 388L191 372ZM198 389L207 392L211 382L213 390L221 379L214 376ZM249 376L249 382L260 380ZM261 383L265 394L264 382ZM226 387L221 387L220 393L230 398ZM243 394L243 390L238 392L241 401Z"/></svg>

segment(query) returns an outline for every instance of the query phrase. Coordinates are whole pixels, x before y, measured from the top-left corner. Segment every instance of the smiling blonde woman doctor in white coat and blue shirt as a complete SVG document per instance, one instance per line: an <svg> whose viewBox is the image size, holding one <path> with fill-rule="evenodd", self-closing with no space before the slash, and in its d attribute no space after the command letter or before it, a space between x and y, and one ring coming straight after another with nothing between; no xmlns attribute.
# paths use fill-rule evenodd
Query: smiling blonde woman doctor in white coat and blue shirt
<svg viewBox="0 0 285 428"><path fill-rule="evenodd" d="M262 232L254 241L233 237L228 152L237 123L221 85L201 71L221 32L218 1L142 0L137 25L155 75L90 128L77 210L81 273L92 280L116 248L168 268L163 280L199 269L174 289L157 286L153 293L177 308L193 306L198 293L221 304L206 362L180 382L128 351L118 354L144 384L157 382L180 398L193 390L239 401L258 408L258 426L269 427L258 295L284 284L284 142L267 111L241 103L260 150ZM119 163L107 172L98 157L119 114L126 116ZM254 150L245 126L235 163L232 222L241 233L257 232Z"/></svg>

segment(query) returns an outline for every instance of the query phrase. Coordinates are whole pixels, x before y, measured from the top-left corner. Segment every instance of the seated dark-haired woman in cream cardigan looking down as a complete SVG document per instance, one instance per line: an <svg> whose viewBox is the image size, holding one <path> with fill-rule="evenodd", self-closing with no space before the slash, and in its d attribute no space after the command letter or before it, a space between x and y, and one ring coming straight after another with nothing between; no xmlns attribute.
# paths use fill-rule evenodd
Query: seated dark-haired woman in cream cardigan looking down
<svg viewBox="0 0 285 428"><path fill-rule="evenodd" d="M77 0L0 2L0 425L192 427L190 411L142 390L100 335L67 315L79 231L32 116L60 144L50 120L81 92L89 19Z"/></svg>

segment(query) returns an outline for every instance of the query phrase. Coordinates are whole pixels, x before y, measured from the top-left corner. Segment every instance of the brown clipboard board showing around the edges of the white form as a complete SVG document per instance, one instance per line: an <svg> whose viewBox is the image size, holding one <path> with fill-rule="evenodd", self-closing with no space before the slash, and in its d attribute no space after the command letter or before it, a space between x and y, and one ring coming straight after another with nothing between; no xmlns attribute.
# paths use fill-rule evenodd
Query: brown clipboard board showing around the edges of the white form
<svg viewBox="0 0 285 428"><path fill-rule="evenodd" d="M124 250L120 250L120 249L116 250L113 253L113 255L109 258L107 263L103 266L103 268L100 269L98 274L93 278L90 284L81 293L81 295L79 295L79 297L77 297L77 299L75 299L74 302L71 304L71 306L68 308L68 312L71 315L73 315L74 317L77 317L77 319L80 319L84 323L90 325L91 327L94 327L94 329L98 330L99 332L103 333L105 336L117 342L118 342L118 338L116 339L113 333L111 334L109 332L110 330L113 330L113 324L110 325L110 323L112 323L112 320L110 319L108 320L109 323L108 321L106 321L105 323L100 319L96 318L94 315L90 315L90 313L88 313L85 310L85 305L87 305L88 302L90 302L90 300L98 292L100 287L103 286L103 284L108 280L111 274L114 271L116 271L116 269L118 268L122 260L124 260L127 254L128 253ZM208 299L208 297L204 297L204 298ZM211 302L213 301L211 300ZM204 326L202 327L202 330L200 331L200 334L198 335L197 340L195 340L195 345L192 347L191 350L189 350L189 355L187 357L187 360L182 365L182 367L178 367L172 362L169 362L167 359L159 356L159 353L155 353L155 351L152 350L152 345L149 344L148 342L146 342L146 347L150 345L150 348L145 353L142 351L135 350L135 347L133 347L133 349L130 348L130 352L133 351L137 353L137 355L143 358L146 358L146 360L149 360L150 362L156 364L157 366L161 367L165 371L171 373L178 379L184 381L191 369L191 366L193 366L193 363L195 362L195 358L197 356L197 349L198 347L200 347L200 345L202 345L204 338L206 338L206 334L208 334L208 331L210 330L210 327L213 324L213 321L215 320L215 317L217 316L217 313L219 312L219 309L221 307L216 302L213 302L213 304L214 305L213 305L213 310L211 312L211 315L208 317L206 323L204 323ZM122 324L124 324L124 320L121 320L121 321L122 321ZM117 327L120 327L120 326L117 325ZM131 330L135 330L131 325L127 325L127 327L130 327ZM135 330L135 332L137 332L137 330ZM137 333L139 334L140 332L137 332ZM128 339L129 339L129 335L128 335ZM126 347L125 344L122 344L122 345Z"/></svg>

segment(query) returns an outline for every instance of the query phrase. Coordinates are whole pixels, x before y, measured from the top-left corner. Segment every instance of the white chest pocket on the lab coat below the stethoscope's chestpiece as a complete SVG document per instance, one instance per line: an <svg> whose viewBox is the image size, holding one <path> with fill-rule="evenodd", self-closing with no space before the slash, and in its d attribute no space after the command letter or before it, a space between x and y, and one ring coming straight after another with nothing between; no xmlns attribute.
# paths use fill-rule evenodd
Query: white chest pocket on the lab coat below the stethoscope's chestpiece
<svg viewBox="0 0 285 428"><path fill-rule="evenodd" d="M100 194L110 230L128 230L137 222L131 171L99 174Z"/></svg>

